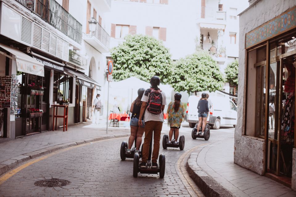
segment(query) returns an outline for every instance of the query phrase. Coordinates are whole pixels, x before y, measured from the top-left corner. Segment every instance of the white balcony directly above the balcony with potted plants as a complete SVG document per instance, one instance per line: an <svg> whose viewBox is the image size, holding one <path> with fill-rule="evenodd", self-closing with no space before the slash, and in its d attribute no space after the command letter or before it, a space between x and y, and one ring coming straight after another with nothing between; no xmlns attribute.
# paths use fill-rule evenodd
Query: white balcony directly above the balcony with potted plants
<svg viewBox="0 0 296 197"><path fill-rule="evenodd" d="M199 18L199 17L198 17ZM201 7L201 16L197 21L202 28L223 30L226 26L226 11L219 8Z"/></svg>

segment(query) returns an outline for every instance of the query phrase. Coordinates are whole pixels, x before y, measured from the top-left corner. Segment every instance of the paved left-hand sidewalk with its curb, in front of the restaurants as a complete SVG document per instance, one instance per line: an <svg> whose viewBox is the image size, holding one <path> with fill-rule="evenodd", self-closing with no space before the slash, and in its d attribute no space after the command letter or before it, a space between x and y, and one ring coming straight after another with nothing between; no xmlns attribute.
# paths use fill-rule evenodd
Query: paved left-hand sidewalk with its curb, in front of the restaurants
<svg viewBox="0 0 296 197"><path fill-rule="evenodd" d="M80 123L69 126L68 131L65 132L60 128L57 131L47 131L0 143L0 175L28 159L61 148L130 135L129 127L109 127L106 134L106 123L103 122L98 125Z"/></svg>

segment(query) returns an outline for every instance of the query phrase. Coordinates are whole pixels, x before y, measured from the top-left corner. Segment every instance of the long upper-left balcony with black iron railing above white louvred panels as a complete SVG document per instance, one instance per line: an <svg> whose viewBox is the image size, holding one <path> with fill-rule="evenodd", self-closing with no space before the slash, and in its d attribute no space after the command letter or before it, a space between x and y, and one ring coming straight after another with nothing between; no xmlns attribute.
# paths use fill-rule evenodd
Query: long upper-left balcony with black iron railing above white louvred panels
<svg viewBox="0 0 296 197"><path fill-rule="evenodd" d="M81 44L82 25L55 0L15 0Z"/></svg>

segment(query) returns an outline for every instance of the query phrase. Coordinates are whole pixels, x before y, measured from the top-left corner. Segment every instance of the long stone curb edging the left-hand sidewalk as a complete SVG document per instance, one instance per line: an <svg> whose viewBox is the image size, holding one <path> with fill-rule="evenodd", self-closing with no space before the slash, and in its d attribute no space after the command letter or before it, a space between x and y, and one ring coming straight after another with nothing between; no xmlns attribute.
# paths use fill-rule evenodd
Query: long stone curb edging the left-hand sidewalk
<svg viewBox="0 0 296 197"><path fill-rule="evenodd" d="M49 153L65 149L68 147L78 146L80 144L90 143L90 142L96 142L104 139L111 139L111 138L121 138L121 137L127 137L130 136L130 133L126 134L115 134L115 135L103 135L103 136L97 136L93 138L78 140L76 142L69 142L64 144L55 145L52 147L43 148L37 151L25 153L23 155L19 155L16 157L13 157L11 159L8 159L6 161L3 161L0 163L0 176L5 174L6 172L12 170L13 168L17 167L18 165L27 162L30 159L35 159L36 157L40 157L43 155L47 155Z"/></svg>

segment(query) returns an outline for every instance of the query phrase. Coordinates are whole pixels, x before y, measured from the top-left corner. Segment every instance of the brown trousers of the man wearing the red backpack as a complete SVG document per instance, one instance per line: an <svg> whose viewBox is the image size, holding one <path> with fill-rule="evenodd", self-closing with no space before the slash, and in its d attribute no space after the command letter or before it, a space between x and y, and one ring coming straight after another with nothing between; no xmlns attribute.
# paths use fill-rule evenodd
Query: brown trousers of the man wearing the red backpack
<svg viewBox="0 0 296 197"><path fill-rule="evenodd" d="M159 146L160 146L160 134L162 129L162 122L160 121L147 121L145 122L145 138L142 152L142 162L147 162L149 156L149 147L150 141L152 138L152 134L154 131L154 146L152 153L152 162L157 162L158 154L159 154Z"/></svg>

